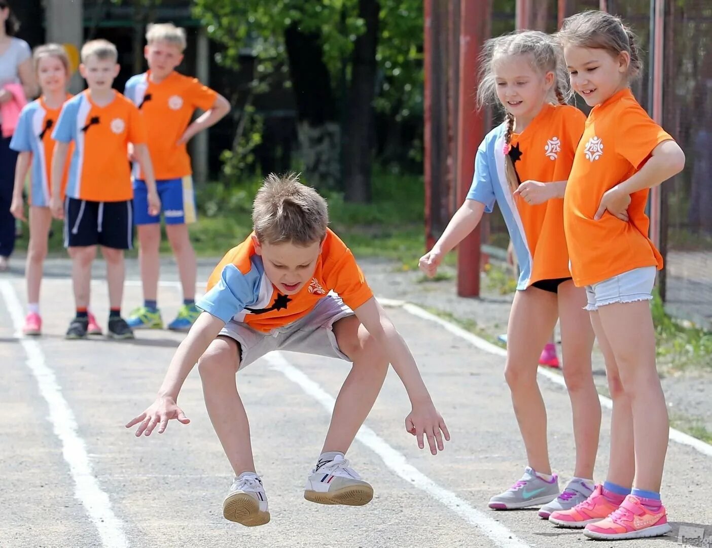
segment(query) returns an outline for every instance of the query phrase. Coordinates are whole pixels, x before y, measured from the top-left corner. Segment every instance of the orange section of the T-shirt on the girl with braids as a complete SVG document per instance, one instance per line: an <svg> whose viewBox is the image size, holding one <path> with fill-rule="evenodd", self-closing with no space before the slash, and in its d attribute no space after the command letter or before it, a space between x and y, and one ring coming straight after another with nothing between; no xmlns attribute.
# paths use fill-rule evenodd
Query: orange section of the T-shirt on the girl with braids
<svg viewBox="0 0 712 548"><path fill-rule="evenodd" d="M511 147L520 182L565 181L574 151L583 132L586 115L571 105L547 103L522 133L513 133ZM531 261L529 283L568 278L569 255L564 236L563 200L555 198L530 205L516 195Z"/></svg>

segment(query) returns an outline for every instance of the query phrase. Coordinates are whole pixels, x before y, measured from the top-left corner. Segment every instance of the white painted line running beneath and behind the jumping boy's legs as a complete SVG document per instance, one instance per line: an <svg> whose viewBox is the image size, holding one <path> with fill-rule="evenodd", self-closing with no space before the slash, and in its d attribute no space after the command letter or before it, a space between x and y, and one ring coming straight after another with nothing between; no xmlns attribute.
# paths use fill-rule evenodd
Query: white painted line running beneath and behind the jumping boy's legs
<svg viewBox="0 0 712 548"><path fill-rule="evenodd" d="M305 393L317 400L323 407L331 413L334 409L334 398L332 398L318 383L312 381L298 368L290 364L281 352L272 352L263 359L271 364L273 369L282 373L293 383L298 384ZM369 427L363 425L356 435L356 439L366 445L383 461L384 465L407 481L409 485L425 491L445 507L455 512L466 522L474 525L492 542L502 548L528 548L522 540L518 539L513 532L504 527L501 523L487 517L480 510L472 507L466 500L461 499L454 492L446 490L429 477L420 472L416 467L408 462L405 455L389 445Z"/></svg>

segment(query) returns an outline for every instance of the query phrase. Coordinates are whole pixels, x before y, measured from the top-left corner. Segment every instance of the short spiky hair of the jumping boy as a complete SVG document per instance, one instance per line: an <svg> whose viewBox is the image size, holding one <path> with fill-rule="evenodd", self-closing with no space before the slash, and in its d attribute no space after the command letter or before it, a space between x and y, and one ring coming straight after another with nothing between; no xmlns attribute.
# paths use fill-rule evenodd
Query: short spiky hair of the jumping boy
<svg viewBox="0 0 712 548"><path fill-rule="evenodd" d="M299 175L268 175L252 205L252 226L262 243L308 246L326 236L326 200Z"/></svg>

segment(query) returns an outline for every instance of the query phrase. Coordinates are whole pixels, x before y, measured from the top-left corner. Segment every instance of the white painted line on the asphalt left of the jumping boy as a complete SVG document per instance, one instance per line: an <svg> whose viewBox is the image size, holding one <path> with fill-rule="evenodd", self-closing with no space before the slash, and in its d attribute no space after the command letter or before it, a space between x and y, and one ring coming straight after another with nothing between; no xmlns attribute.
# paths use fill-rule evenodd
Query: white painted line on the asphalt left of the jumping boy
<svg viewBox="0 0 712 548"><path fill-rule="evenodd" d="M69 465L70 474L74 480L74 496L86 508L99 532L103 546L106 548L127 548L129 544L124 535L123 524L112 512L109 496L101 490L99 482L93 474L86 445L78 433L74 413L67 400L62 396L62 389L54 371L47 366L41 346L36 341L21 336L24 320L23 306L9 281L0 281L0 293L17 329L19 343L27 355L25 363L32 371L39 391L49 407L47 418L62 443L62 455Z"/></svg>

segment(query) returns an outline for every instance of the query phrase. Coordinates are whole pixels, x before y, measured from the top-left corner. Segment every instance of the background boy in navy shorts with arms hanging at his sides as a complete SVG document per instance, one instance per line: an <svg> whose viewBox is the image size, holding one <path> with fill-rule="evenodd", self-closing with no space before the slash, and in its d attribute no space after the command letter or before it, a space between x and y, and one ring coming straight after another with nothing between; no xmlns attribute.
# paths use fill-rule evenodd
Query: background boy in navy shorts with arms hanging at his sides
<svg viewBox="0 0 712 548"><path fill-rule="evenodd" d="M107 263L110 315L108 335L132 338L121 318L125 278L124 250L133 244L133 189L126 161L129 143L146 175L147 209L160 211L153 167L146 146L146 128L136 106L112 89L119 73L116 47L105 40L85 43L80 73L88 90L68 100L59 115L52 138L57 141L52 161L51 210L64 219L64 244L72 258L76 316L67 338L87 335L91 265L101 246ZM70 143L71 156L66 199L61 200L61 180Z"/></svg>

